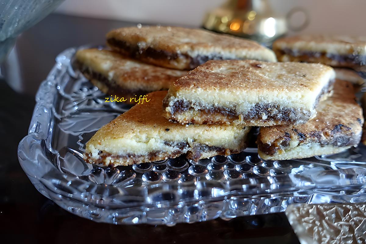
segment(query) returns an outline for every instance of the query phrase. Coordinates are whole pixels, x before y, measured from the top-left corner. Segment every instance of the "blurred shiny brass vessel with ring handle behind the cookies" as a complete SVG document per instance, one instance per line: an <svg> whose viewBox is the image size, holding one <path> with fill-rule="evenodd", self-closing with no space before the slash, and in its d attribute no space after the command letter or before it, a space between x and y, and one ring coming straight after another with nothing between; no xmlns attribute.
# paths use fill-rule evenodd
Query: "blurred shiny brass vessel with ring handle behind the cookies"
<svg viewBox="0 0 366 244"><path fill-rule="evenodd" d="M305 20L299 26L290 24L295 13L302 12ZM268 0L228 0L209 12L203 21L208 30L249 38L270 46L290 29L299 31L309 24L309 16L302 8L293 8L286 16L275 14Z"/></svg>

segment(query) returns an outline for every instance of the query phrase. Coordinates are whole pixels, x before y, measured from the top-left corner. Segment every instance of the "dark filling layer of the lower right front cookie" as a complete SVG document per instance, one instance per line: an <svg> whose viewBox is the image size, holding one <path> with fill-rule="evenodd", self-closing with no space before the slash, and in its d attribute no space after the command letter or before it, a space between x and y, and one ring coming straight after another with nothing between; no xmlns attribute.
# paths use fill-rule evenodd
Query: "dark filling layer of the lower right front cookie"
<svg viewBox="0 0 366 244"><path fill-rule="evenodd" d="M343 124L335 125L335 127L330 131L330 133L322 132L322 131L312 131L309 134L303 134L299 132L297 129L292 129L297 134L297 139L299 141L298 146L306 143L317 143L320 146L324 147L327 145L333 145L335 147L346 147L352 146L359 143L361 138L361 134L354 135L351 131L350 127L347 127ZM328 139L322 139L322 134L328 135ZM276 140L276 142L269 145L268 143L263 143L259 138L257 140L258 149L263 153L273 156L277 153L278 150L283 149L286 150L286 147L290 145L290 134L285 132L285 135Z"/></svg>

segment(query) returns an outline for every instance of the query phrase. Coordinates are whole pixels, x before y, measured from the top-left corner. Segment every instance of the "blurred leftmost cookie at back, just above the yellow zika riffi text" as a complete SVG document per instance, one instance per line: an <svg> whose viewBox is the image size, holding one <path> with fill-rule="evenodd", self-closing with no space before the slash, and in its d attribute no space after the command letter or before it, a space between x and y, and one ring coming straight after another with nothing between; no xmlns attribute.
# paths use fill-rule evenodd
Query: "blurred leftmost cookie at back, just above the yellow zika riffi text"
<svg viewBox="0 0 366 244"><path fill-rule="evenodd" d="M78 50L75 58L93 85L106 94L126 98L127 103L135 95L168 90L173 81L187 74L186 71L144 64L110 50Z"/></svg>

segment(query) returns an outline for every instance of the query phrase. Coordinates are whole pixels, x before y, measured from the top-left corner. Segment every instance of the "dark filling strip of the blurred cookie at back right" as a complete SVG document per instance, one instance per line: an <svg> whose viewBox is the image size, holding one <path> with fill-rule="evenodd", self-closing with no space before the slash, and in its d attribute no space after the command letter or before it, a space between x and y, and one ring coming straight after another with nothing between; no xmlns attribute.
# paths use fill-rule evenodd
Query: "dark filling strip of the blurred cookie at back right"
<svg viewBox="0 0 366 244"><path fill-rule="evenodd" d="M354 54L340 55L340 54L335 54L335 53L292 50L290 48L285 48L285 49L281 50L281 52L283 54L291 55L291 56L294 56L294 57L299 57L299 56L321 57L321 56L325 56L328 59L335 60L339 63L352 63L352 64L358 64L358 65L366 65L366 55L354 55Z"/></svg>

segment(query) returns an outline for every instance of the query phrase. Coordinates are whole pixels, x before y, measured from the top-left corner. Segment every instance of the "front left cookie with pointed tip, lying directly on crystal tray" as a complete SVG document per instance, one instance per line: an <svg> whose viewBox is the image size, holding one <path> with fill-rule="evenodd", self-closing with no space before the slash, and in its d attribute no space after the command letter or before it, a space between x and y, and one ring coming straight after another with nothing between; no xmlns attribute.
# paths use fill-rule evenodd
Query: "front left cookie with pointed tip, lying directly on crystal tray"
<svg viewBox="0 0 366 244"><path fill-rule="evenodd" d="M243 125L182 125L162 116L167 91L147 94L137 104L104 125L86 143L84 159L103 165L131 165L178 157L198 160L238 153L246 147L250 127Z"/></svg>

